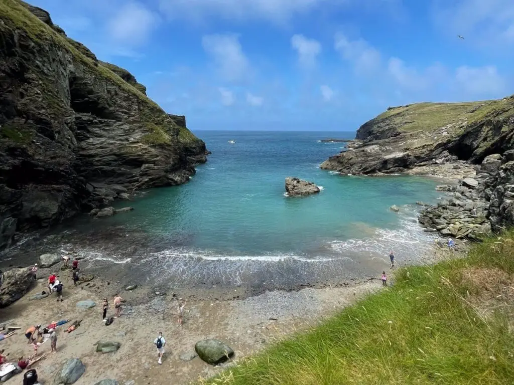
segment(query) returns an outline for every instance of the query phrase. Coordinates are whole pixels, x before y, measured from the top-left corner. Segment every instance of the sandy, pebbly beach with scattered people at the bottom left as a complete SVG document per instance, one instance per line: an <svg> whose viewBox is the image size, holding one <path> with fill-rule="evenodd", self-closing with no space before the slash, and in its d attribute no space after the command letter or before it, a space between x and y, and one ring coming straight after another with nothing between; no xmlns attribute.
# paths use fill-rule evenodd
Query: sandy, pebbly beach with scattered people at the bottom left
<svg viewBox="0 0 514 385"><path fill-rule="evenodd" d="M74 287L68 271L60 272L59 276L65 285L63 302L56 301L55 294L39 301L29 301L31 295L45 290L46 271L48 269L41 271L40 276L44 278L35 282L27 295L2 309L2 322L12 320L10 324L21 329L0 342L0 347L9 353L8 361L17 361L18 357L33 353L24 336L24 331L30 325L46 325L61 319L83 319L79 328L70 334L64 333L67 326L58 328L58 353L50 354L50 342L46 341L39 349L39 354L47 353L46 357L34 364L43 383L52 383L66 359L80 358L86 371L76 382L77 385L89 385L106 378L116 379L122 384L186 384L199 377L209 377L223 370L224 365L214 368L198 357L191 361L180 358L194 353L197 341L217 338L229 344L235 356L233 362L227 364L235 364L237 360L267 347L277 339L315 325L324 317L381 287L379 280L369 280L339 287L266 292L244 300L199 300L191 297L182 326L177 325L178 296L165 293L149 296L145 292L138 293L144 288L136 288L132 292L120 293L126 298L121 317L105 326L101 315L102 296L97 292L99 287L97 290L85 285ZM89 282L90 286L97 279ZM112 308L109 315L114 315L113 294L109 292ZM138 297L141 295L148 295L147 300L140 301ZM81 300L94 300L97 305L92 309L80 310L76 304ZM133 304L139 302L143 303ZM167 340L162 365L157 363L153 345L159 331ZM97 341L120 342L121 348L114 353L97 353ZM16 375L6 383L19 383L22 376Z"/></svg>

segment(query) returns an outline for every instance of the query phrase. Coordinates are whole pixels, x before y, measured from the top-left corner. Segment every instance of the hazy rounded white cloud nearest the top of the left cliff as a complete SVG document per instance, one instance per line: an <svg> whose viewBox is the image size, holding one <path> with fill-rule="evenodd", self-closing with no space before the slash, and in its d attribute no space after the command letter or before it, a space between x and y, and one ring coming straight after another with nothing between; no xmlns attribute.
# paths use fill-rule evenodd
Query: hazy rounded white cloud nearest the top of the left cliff
<svg viewBox="0 0 514 385"><path fill-rule="evenodd" d="M159 16L136 2L127 3L113 15L107 32L114 41L126 45L145 43L159 23Z"/></svg>

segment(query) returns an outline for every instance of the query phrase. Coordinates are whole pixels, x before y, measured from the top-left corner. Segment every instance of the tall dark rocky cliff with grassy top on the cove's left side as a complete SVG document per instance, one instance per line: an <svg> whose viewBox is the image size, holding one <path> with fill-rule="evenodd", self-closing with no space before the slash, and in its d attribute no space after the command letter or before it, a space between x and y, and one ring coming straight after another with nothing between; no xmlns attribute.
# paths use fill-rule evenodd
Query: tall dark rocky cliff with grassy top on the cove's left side
<svg viewBox="0 0 514 385"><path fill-rule="evenodd" d="M184 183L206 153L130 72L0 0L0 249L126 189Z"/></svg>

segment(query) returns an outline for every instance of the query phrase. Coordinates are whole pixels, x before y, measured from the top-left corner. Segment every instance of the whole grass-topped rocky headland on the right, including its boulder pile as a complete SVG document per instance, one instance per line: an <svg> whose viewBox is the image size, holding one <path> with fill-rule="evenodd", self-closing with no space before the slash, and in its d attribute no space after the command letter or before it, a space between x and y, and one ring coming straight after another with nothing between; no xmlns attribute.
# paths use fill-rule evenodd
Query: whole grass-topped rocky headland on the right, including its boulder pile
<svg viewBox="0 0 514 385"><path fill-rule="evenodd" d="M390 107L321 164L343 175L445 178L451 195L419 217L426 231L480 239L514 225L514 95Z"/></svg>

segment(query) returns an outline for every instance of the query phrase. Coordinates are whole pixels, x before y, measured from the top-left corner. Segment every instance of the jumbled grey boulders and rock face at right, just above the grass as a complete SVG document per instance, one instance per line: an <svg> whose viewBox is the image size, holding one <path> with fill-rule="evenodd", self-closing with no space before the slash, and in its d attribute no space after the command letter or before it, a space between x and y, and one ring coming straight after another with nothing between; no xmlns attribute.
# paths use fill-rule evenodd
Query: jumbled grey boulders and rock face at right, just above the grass
<svg viewBox="0 0 514 385"><path fill-rule="evenodd" d="M476 168L476 179L437 186L449 199L422 210L419 223L428 231L472 240L514 224L514 150L490 155Z"/></svg>

